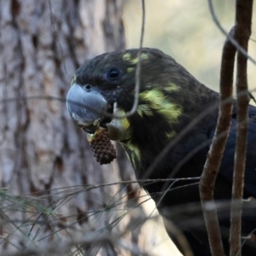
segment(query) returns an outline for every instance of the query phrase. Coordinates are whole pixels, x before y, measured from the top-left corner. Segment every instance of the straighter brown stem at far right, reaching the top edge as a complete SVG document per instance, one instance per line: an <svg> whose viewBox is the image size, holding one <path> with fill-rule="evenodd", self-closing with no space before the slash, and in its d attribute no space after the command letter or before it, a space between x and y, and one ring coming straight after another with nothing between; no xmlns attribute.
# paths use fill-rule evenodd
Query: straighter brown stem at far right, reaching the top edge
<svg viewBox="0 0 256 256"><path fill-rule="evenodd" d="M246 52L251 35L252 15L253 0L236 0L236 41ZM238 52L236 74L237 135L230 219L230 256L241 255L241 209L247 152L247 107L249 97L244 94L241 96L240 93L247 90L247 55Z"/></svg>

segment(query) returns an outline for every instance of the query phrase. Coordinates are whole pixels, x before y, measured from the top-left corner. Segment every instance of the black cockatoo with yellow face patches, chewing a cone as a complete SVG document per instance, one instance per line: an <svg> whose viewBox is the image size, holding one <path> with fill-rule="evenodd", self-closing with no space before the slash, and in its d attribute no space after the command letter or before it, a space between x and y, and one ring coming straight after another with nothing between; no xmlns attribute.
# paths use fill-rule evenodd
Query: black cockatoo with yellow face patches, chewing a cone
<svg viewBox="0 0 256 256"><path fill-rule="evenodd" d="M128 49L98 55L79 67L67 94L67 108L72 119L92 134L100 127L105 128L110 139L125 148L137 179L201 177L217 125L218 92L197 81L171 56L159 49L143 48L137 110L125 117L134 103L137 61L138 49ZM203 112L207 114L199 119ZM244 199L256 197L255 107L249 106L248 116ZM196 124L166 150L166 146L195 119L198 119ZM214 191L217 201L230 200L236 125L234 101L230 135ZM166 152L162 154L164 149ZM160 154L160 160L152 166ZM211 255L201 212L199 180L141 185L155 201L160 214L183 230L195 256ZM219 211L218 217L224 250L228 253L228 207ZM255 229L256 208L251 207L243 212L242 236L256 234ZM172 232L166 230L172 237ZM243 255L256 255L254 243L249 239L244 243ZM183 252L179 243L177 247Z"/></svg>

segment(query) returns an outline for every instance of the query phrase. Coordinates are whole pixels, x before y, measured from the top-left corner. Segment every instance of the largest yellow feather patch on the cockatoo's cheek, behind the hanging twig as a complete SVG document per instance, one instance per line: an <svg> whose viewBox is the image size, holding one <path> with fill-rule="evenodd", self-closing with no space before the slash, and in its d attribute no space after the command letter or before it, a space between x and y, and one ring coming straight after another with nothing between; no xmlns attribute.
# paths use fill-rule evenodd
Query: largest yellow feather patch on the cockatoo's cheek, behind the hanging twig
<svg viewBox="0 0 256 256"><path fill-rule="evenodd" d="M171 102L161 90L146 90L141 92L139 97L142 101L147 102L149 108L160 113L170 126L172 126L172 124L177 124L178 118L182 114L182 108Z"/></svg>

